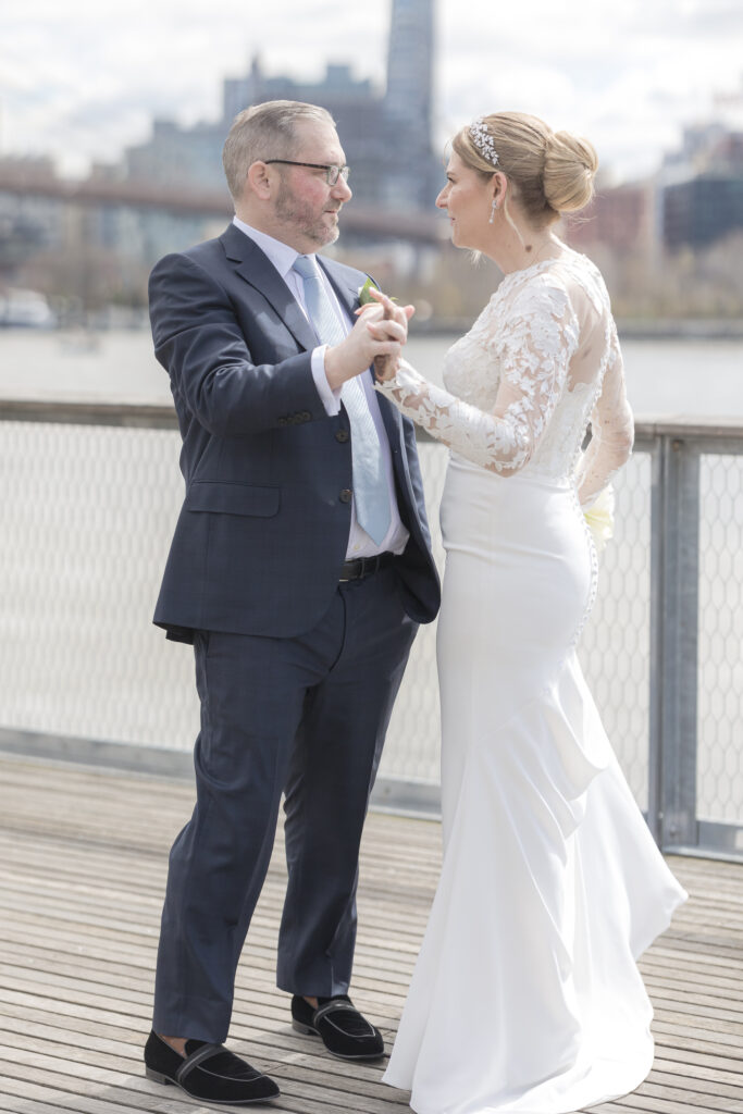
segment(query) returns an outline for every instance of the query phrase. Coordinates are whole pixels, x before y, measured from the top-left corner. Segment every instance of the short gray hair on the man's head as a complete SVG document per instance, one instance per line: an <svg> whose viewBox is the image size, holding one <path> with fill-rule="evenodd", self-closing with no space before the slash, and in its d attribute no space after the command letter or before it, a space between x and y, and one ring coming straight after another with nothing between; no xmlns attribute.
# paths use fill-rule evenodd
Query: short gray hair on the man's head
<svg viewBox="0 0 743 1114"><path fill-rule="evenodd" d="M222 152L224 173L235 201L242 197L253 163L292 157L296 150L295 125L299 120L317 120L335 127L326 109L302 100L266 100L237 114Z"/></svg>

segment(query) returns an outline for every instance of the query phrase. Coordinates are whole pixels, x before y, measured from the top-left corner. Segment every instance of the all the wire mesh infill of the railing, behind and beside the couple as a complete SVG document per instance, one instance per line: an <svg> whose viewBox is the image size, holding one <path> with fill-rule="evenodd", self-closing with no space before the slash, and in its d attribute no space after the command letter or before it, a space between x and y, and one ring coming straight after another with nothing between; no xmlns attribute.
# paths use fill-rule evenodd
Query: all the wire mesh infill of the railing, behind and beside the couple
<svg viewBox="0 0 743 1114"><path fill-rule="evenodd" d="M0 423L0 725L187 751L190 651L150 624L180 506L179 437L158 429ZM420 444L436 556L447 452ZM704 815L741 822L743 460L702 459L700 752ZM617 483L615 539L580 658L642 808L649 735L651 458ZM497 616L493 616L497 622ZM421 629L381 773L438 779L436 627ZM737 781L736 781L737 779Z"/></svg>

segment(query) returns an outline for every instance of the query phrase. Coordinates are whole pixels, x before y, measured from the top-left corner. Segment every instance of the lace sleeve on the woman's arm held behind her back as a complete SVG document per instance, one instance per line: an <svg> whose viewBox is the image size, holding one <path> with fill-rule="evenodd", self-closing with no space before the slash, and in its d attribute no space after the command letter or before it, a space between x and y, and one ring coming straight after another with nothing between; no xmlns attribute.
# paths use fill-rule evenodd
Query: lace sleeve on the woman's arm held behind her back
<svg viewBox="0 0 743 1114"><path fill-rule="evenodd" d="M634 422L625 392L624 365L616 330L613 331L602 393L590 423L592 438L580 465L578 480L578 497L584 508L596 501L626 463L634 441Z"/></svg>

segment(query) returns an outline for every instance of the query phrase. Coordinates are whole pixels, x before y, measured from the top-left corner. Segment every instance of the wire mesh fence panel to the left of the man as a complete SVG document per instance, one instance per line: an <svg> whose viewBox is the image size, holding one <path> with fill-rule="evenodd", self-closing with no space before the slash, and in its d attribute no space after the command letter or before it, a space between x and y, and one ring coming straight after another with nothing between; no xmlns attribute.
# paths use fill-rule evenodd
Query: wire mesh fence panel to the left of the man
<svg viewBox="0 0 743 1114"><path fill-rule="evenodd" d="M0 722L189 745L187 651L150 625L182 499L175 432L3 422Z"/></svg>

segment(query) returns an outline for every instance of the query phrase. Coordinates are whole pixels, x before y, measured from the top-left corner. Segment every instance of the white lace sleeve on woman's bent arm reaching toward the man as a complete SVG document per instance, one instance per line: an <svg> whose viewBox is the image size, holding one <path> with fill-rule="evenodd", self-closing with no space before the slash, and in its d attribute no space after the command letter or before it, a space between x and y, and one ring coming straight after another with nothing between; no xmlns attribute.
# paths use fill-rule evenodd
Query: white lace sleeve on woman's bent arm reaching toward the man
<svg viewBox="0 0 743 1114"><path fill-rule="evenodd" d="M510 476L531 459L564 389L578 324L565 291L539 284L517 297L508 332L485 339L500 382L492 412L434 387L401 361L377 389L472 463Z"/></svg>

